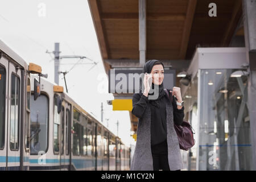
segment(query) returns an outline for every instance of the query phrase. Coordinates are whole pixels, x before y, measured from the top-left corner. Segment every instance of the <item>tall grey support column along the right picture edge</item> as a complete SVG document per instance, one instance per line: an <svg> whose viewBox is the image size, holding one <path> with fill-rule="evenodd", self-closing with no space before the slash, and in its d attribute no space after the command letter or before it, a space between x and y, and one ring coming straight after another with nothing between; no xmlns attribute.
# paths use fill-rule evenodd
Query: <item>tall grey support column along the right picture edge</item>
<svg viewBox="0 0 256 182"><path fill-rule="evenodd" d="M251 170L256 170L256 0L243 0L246 60L249 63L248 102L251 133Z"/></svg>

